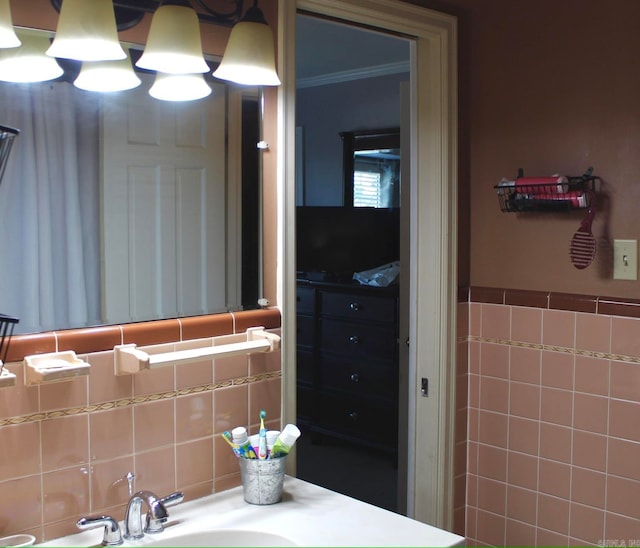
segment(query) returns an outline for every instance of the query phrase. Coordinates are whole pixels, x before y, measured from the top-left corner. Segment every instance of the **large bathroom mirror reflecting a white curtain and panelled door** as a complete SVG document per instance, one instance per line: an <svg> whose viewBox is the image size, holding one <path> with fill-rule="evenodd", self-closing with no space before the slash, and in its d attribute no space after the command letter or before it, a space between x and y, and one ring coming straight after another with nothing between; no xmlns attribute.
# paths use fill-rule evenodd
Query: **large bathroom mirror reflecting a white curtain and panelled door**
<svg viewBox="0 0 640 548"><path fill-rule="evenodd" d="M0 312L15 333L257 308L259 97L188 102L0 83L20 129L0 186Z"/></svg>

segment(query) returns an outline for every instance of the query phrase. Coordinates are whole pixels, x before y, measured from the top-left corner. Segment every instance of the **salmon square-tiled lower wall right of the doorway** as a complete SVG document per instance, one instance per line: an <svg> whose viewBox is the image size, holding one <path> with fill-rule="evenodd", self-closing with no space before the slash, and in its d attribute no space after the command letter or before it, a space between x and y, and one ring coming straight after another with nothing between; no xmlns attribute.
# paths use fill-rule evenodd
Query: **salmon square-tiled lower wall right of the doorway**
<svg viewBox="0 0 640 548"><path fill-rule="evenodd" d="M469 544L640 545L640 318L503 303L466 315Z"/></svg>

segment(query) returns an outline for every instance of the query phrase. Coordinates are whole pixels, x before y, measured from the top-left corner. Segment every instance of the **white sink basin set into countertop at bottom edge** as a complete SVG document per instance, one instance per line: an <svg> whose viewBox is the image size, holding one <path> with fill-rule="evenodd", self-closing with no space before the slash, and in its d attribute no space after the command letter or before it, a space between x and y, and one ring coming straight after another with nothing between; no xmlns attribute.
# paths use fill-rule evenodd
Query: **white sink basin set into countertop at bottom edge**
<svg viewBox="0 0 640 548"><path fill-rule="evenodd" d="M148 538L148 537L147 537ZM186 533L146 542L146 546L296 546L287 537L245 529L217 529Z"/></svg>

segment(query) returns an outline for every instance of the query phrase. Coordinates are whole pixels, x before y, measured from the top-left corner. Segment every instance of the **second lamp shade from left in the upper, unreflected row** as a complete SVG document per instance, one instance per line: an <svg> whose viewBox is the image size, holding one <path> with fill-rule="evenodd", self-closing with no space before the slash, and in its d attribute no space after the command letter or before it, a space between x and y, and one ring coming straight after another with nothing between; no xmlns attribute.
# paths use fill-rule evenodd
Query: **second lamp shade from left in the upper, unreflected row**
<svg viewBox="0 0 640 548"><path fill-rule="evenodd" d="M76 61L112 61L127 54L118 41L112 0L63 0L47 55Z"/></svg>

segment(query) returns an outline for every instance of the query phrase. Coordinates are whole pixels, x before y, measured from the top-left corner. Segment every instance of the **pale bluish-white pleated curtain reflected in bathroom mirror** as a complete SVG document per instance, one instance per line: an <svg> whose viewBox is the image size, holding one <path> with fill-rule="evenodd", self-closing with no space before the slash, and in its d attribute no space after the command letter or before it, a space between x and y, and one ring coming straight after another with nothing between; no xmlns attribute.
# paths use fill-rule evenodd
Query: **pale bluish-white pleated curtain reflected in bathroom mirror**
<svg viewBox="0 0 640 548"><path fill-rule="evenodd" d="M0 313L14 333L100 322L99 96L66 82L0 85L18 128L0 182Z"/></svg>

